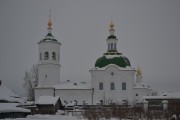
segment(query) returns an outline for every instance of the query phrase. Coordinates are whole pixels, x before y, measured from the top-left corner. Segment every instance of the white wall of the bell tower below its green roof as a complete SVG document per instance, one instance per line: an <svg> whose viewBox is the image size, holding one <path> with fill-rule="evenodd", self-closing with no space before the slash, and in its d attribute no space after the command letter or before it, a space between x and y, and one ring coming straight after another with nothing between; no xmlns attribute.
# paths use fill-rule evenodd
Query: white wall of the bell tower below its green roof
<svg viewBox="0 0 180 120"><path fill-rule="evenodd" d="M48 52L48 60L44 59L45 52ZM52 53L56 53L56 59L53 60ZM38 65L38 86L51 86L60 82L60 43L54 41L45 41L39 43L39 65ZM41 55L41 60L40 60Z"/></svg>

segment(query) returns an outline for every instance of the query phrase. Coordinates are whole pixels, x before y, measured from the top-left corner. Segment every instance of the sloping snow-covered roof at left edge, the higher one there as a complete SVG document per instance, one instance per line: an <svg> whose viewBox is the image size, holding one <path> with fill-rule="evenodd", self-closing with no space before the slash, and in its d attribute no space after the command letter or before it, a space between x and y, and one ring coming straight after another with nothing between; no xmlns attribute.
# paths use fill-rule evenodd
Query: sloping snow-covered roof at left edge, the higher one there
<svg viewBox="0 0 180 120"><path fill-rule="evenodd" d="M21 102L22 101L17 94L13 93L4 84L0 85L0 100L7 101L7 102Z"/></svg>

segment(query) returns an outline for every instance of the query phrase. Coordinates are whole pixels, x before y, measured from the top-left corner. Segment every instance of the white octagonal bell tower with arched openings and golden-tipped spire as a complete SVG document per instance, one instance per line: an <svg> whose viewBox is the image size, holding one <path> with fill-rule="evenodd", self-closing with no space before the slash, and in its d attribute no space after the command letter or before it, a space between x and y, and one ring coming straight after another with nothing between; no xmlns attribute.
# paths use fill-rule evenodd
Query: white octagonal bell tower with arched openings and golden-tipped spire
<svg viewBox="0 0 180 120"><path fill-rule="evenodd" d="M38 42L38 87L51 87L60 83L60 46L52 35L52 21L49 15L48 33L44 39Z"/></svg>

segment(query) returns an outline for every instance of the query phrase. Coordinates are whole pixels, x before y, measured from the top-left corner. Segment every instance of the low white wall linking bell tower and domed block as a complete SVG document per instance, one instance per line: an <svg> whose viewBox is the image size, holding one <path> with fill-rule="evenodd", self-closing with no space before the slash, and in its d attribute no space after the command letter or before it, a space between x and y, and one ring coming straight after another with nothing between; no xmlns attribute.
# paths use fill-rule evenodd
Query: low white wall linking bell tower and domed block
<svg viewBox="0 0 180 120"><path fill-rule="evenodd" d="M61 102L74 102L78 101L78 105L83 105L83 101L86 101L89 105L92 105L92 90L91 89L56 89L56 96L60 96Z"/></svg>

